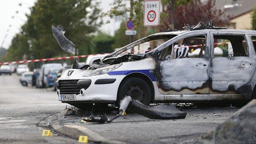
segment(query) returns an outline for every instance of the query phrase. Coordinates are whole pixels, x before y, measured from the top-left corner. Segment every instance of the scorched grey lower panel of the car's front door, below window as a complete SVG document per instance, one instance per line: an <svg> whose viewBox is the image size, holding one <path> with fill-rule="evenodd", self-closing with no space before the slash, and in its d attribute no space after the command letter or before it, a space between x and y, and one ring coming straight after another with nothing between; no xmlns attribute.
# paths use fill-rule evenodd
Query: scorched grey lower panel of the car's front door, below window
<svg viewBox="0 0 256 144"><path fill-rule="evenodd" d="M196 90L208 87L209 62L203 58L182 58L159 63L161 88L164 91ZM202 91L199 93L208 93ZM190 94L195 93L191 91ZM175 93L165 93L175 94Z"/></svg>

